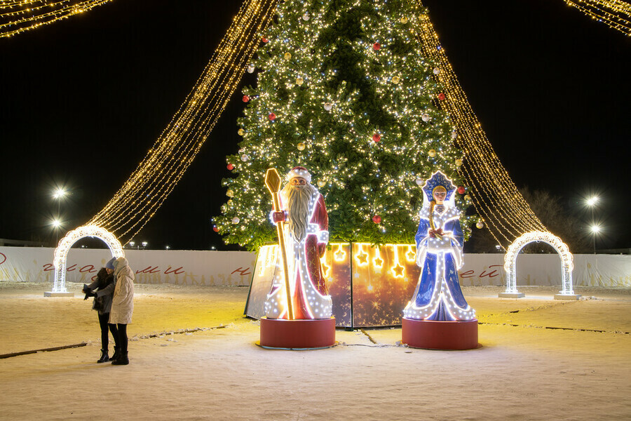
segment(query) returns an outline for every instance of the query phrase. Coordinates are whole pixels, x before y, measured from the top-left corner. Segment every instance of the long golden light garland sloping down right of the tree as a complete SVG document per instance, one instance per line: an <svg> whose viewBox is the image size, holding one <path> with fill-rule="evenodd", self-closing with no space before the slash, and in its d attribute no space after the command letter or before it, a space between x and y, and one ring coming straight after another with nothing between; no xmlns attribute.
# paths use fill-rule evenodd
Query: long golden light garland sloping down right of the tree
<svg viewBox="0 0 631 421"><path fill-rule="evenodd" d="M417 2L423 6L421 0ZM442 105L452 117L464 154L459 171L471 187L470 196L477 213L486 222L496 241L504 246L527 232L547 231L495 154L447 60L428 15L422 13L420 18L421 33L417 35L423 46L423 55L437 63L435 77L445 88L447 97Z"/></svg>

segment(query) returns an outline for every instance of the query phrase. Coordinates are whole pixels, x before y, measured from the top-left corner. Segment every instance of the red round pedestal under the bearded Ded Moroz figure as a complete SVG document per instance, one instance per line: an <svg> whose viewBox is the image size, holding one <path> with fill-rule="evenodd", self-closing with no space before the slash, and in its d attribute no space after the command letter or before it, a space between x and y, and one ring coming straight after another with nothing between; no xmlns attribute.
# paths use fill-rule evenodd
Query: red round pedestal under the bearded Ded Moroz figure
<svg viewBox="0 0 631 421"><path fill-rule="evenodd" d="M326 348L335 345L335 318L315 320L261 319L266 348Z"/></svg>

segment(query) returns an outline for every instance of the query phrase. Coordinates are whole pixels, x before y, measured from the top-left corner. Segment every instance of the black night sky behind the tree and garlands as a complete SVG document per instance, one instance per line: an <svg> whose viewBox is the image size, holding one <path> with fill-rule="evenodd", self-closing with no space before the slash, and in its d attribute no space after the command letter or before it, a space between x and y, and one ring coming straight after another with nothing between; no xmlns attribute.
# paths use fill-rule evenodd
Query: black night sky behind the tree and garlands
<svg viewBox="0 0 631 421"><path fill-rule="evenodd" d="M597 247L631 247L631 37L562 0L423 4L515 184L548 190L576 212L599 194L606 232ZM182 104L239 6L114 0L0 39L0 238L52 245L56 185L71 192L60 203L65 229L95 215ZM226 248L210 219L226 199L240 96L137 241Z"/></svg>

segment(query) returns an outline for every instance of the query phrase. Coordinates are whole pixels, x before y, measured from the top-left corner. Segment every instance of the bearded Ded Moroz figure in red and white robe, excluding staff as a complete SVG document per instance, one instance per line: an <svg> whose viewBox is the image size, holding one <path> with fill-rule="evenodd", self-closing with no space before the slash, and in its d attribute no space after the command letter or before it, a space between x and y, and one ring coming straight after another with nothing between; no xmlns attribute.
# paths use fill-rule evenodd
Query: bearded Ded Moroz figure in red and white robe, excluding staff
<svg viewBox="0 0 631 421"><path fill-rule="evenodd" d="M320 258L329 241L329 217L323 196L311 185L311 174L297 166L287 174L280 192L281 212L273 212L273 223L285 222L285 248L290 274L294 319L328 319L332 300L323 276ZM280 260L279 256L279 260ZM268 319L287 319L287 294L283 265L278 270L267 300Z"/></svg>

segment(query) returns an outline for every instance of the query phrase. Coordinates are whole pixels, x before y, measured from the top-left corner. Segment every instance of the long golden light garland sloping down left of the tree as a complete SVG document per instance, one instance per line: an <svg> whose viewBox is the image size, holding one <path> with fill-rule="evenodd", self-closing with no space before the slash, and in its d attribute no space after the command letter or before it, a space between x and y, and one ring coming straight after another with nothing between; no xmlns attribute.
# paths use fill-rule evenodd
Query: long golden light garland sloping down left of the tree
<svg viewBox="0 0 631 421"><path fill-rule="evenodd" d="M119 239L130 239L154 216L224 111L277 2L243 3L182 106L123 187L88 225L116 232Z"/></svg>

